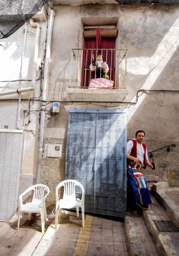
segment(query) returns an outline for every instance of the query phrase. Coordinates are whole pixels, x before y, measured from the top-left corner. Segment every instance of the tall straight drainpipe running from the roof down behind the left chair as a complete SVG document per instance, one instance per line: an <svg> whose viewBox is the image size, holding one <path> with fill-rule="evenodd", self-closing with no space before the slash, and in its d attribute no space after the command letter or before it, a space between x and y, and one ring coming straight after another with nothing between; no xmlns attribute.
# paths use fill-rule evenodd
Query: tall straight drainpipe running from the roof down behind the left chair
<svg viewBox="0 0 179 256"><path fill-rule="evenodd" d="M55 12L53 10L51 10L48 37L47 37L46 56L45 56L43 92L42 92L42 99L41 99L41 109L42 110L41 110L41 116L40 116L39 151L38 151L36 184L40 184L41 158L42 158L42 147L43 147L43 137L44 137L44 122L45 122L45 108L46 108L46 95L47 95L47 89L48 89L50 50L51 50L52 29L53 29L54 16L55 16Z"/></svg>

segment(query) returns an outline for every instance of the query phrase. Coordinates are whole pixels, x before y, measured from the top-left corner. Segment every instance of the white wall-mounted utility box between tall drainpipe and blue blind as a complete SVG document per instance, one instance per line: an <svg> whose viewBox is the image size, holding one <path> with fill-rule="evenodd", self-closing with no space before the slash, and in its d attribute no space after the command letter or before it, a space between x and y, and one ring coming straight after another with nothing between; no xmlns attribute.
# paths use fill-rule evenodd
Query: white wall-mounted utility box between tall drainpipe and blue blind
<svg viewBox="0 0 179 256"><path fill-rule="evenodd" d="M61 157L62 144L45 144L44 157Z"/></svg>

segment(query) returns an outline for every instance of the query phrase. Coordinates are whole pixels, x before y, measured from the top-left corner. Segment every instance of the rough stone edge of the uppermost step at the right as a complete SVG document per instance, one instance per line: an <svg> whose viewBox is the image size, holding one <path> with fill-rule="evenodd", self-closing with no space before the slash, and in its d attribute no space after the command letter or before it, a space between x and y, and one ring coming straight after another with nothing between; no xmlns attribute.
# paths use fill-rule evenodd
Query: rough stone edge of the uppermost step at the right
<svg viewBox="0 0 179 256"><path fill-rule="evenodd" d="M171 221L179 228L179 206L172 201L171 197L167 196L167 190L158 190L154 186L154 196L166 210Z"/></svg>

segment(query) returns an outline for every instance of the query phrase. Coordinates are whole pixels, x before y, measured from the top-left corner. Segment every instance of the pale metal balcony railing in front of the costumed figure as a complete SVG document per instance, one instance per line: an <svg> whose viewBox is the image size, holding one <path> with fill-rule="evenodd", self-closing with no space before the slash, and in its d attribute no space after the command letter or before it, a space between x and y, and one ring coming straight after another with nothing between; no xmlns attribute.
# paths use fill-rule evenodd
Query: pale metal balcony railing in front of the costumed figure
<svg viewBox="0 0 179 256"><path fill-rule="evenodd" d="M97 67L96 61L99 53L104 57L104 64L100 64L101 68ZM91 71L91 64L95 65L95 71ZM108 67L109 79L106 78L105 73L103 75L106 67ZM97 68L100 69L98 76L96 74ZM69 87L126 89L126 75L127 49L72 49ZM97 78L103 79L97 81ZM91 81L93 81L92 87Z"/></svg>

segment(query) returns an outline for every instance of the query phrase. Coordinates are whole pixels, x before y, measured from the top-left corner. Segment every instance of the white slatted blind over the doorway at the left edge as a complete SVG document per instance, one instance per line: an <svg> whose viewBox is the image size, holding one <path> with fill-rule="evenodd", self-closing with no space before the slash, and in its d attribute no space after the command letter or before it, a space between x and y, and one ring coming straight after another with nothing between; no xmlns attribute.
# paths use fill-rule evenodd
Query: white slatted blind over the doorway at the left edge
<svg viewBox="0 0 179 256"><path fill-rule="evenodd" d="M0 221L8 221L17 209L22 130L0 130Z"/></svg>

